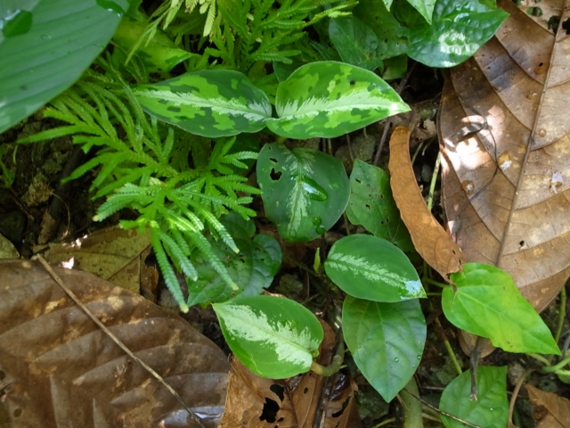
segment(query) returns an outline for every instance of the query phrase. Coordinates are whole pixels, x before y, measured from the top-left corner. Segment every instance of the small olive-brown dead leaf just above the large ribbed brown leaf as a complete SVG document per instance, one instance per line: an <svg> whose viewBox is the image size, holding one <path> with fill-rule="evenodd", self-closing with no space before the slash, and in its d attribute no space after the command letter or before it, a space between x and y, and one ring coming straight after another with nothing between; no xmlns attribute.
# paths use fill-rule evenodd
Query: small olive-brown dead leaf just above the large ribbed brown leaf
<svg viewBox="0 0 570 428"><path fill-rule="evenodd" d="M148 233L107 227L72 243L54 243L45 252L52 264L91 272L130 292L138 293L144 259L151 249Z"/></svg>

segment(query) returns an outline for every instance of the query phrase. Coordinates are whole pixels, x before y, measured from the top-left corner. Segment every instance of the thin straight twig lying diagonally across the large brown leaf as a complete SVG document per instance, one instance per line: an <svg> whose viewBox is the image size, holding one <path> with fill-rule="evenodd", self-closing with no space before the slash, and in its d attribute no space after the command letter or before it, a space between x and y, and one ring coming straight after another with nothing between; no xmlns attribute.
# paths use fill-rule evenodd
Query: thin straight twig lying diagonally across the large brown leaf
<svg viewBox="0 0 570 428"><path fill-rule="evenodd" d="M134 361L136 361L137 363L139 363L139 364L142 366L142 368L144 368L147 372L149 372L149 373L152 375L152 377L154 377L157 381L159 381L159 383L162 383L162 385L163 385L165 388L167 388L167 390L168 390L172 395L175 396L175 399L177 399L177 400L180 402L180 404L184 407L184 409L185 409L185 410L188 412L188 414L191 416L192 420L193 420L196 424L199 424L199 426L200 426L201 428L204 428L204 425L200 422L199 417L196 416L196 414L194 414L194 412L191 410L190 407L188 407L188 405L184 402L184 400L182 399L182 397L180 397L180 395L178 395L178 392L176 392L176 391L174 390L174 388L172 388L172 386L170 386L168 383L166 383L165 380L162 378L162 376L160 376L160 374L158 374L157 372L155 372L155 371L152 369L151 366L148 366L144 361L142 361L141 358L136 357L136 356L134 355L134 353L126 347L125 343L119 341L119 340L118 340L118 337L117 337L115 334L113 334L113 333L109 330L109 328L107 328L107 326L104 325L104 324L101 322L101 320L100 320L98 317L95 317L94 314L93 314L93 312L91 312L89 309L87 309L87 307L85 307L85 305L83 304L83 302L82 302L81 300L79 300L79 298L77 297L77 295L75 294L75 292L72 292L72 291L69 289L69 287L61 280L61 277L58 276L58 275L53 271L53 268L47 263L47 261L45 261L45 259L44 259L42 256L37 255L37 256L34 256L33 259L39 260L39 262L44 266L45 270L47 270L47 272L50 274L50 276L52 276L53 280L54 280L58 285L60 285L61 289L63 289L63 291L67 293L67 295L69 296L69 298L70 298L71 300L73 300L73 301L75 302L75 304L76 304L79 308L81 308L81 310L83 310L83 311L85 312L85 315L86 315L87 317L90 317L90 318L93 320L93 322L94 322L97 326L99 326L99 328L102 329L103 333L107 334L113 342L117 343L118 347L119 347L121 350L124 350L125 353L126 353L126 355L128 355L130 358L133 358Z"/></svg>

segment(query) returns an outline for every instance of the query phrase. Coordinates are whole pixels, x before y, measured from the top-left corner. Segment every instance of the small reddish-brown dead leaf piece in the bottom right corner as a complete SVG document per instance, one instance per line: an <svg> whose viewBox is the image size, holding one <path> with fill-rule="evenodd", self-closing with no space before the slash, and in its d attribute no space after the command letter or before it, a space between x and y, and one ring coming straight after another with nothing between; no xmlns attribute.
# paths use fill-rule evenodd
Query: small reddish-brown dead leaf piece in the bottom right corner
<svg viewBox="0 0 570 428"><path fill-rule="evenodd" d="M570 401L552 392L544 392L525 384L533 405L536 428L568 428L570 426Z"/></svg>

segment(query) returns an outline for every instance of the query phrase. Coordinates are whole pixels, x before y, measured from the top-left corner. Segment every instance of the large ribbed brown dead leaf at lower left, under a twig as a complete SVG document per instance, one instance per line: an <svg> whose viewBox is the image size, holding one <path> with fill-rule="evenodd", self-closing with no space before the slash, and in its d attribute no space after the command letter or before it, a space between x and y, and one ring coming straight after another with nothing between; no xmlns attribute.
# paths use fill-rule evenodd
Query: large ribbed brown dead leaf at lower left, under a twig
<svg viewBox="0 0 570 428"><path fill-rule="evenodd" d="M202 424L224 406L224 352L141 296L56 268L118 339L157 371ZM0 261L0 391L12 428L197 426L166 388L102 333L36 262ZM161 425L159 425L161 424Z"/></svg>

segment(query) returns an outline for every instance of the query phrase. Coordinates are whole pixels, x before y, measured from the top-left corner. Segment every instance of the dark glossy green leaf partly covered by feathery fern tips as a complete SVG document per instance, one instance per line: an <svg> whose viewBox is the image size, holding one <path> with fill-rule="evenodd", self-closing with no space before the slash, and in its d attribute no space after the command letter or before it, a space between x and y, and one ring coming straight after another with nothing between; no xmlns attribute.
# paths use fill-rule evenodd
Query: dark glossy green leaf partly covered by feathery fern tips
<svg viewBox="0 0 570 428"><path fill-rule="evenodd" d="M244 220L235 212L220 220L240 249L235 253L221 240L209 236L212 251L239 289L234 290L211 267L200 251L191 254L192 265L198 271L196 281L188 280L188 306L228 300L236 295L255 296L271 285L281 267L281 247L269 235L255 235L253 221Z"/></svg>

